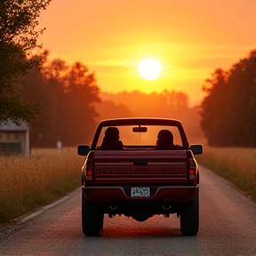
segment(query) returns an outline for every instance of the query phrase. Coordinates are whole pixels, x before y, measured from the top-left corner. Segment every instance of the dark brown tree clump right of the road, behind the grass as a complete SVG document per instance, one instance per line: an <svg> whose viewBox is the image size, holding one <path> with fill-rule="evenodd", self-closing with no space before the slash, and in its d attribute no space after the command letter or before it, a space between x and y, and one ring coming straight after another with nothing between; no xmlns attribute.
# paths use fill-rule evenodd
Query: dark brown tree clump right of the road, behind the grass
<svg viewBox="0 0 256 256"><path fill-rule="evenodd" d="M256 147L256 51L205 81L201 127L210 146Z"/></svg>

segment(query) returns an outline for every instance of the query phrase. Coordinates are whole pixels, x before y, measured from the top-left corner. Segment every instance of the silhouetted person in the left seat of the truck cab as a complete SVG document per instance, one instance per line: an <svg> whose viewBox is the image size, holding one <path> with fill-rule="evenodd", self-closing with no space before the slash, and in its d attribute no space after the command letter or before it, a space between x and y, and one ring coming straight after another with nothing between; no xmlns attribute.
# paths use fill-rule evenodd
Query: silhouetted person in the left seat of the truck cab
<svg viewBox="0 0 256 256"><path fill-rule="evenodd" d="M116 127L108 127L105 131L100 150L121 150L124 149L123 142L119 140L119 130Z"/></svg>

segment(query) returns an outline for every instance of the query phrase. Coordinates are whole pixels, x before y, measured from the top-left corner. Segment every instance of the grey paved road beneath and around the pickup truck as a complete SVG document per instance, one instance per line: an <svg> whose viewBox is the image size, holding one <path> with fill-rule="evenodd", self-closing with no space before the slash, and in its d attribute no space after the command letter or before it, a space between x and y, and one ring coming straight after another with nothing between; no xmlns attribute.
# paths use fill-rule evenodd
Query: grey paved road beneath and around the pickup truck
<svg viewBox="0 0 256 256"><path fill-rule="evenodd" d="M256 204L202 166L200 175L197 236L181 236L176 215L141 223L105 215L100 236L86 237L78 189L11 234L1 230L0 255L256 255Z"/></svg>

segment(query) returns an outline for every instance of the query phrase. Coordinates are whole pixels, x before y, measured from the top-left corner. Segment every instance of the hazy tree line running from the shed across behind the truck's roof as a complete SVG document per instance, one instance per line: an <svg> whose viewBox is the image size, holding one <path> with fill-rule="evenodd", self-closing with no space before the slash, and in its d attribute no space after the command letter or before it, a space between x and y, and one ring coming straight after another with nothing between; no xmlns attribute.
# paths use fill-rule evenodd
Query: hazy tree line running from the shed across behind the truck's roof
<svg viewBox="0 0 256 256"><path fill-rule="evenodd" d="M100 120L116 117L179 119L188 127L188 135L201 136L199 125L195 125L199 123L198 108L188 108L187 94L134 91L110 93L109 100L102 100L95 74L83 63L68 65L64 60L48 60L48 52L42 55L40 68L20 76L14 85L28 104L40 102L36 120L30 123L31 148L56 147L57 140L64 147L90 144Z"/></svg>

